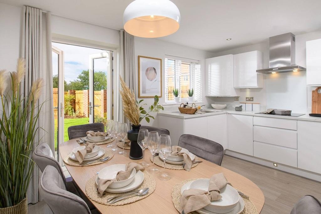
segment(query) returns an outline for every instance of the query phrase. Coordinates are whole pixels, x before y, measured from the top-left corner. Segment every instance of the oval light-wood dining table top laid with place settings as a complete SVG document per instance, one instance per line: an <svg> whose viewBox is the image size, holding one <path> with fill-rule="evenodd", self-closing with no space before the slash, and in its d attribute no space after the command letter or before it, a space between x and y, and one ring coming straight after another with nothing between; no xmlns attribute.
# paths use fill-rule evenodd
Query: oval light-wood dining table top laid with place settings
<svg viewBox="0 0 321 214"><path fill-rule="evenodd" d="M66 141L59 145L59 151L61 157L64 158L71 152L75 147L78 147L79 144L76 142L79 139L73 139ZM115 141L111 142L115 143ZM107 148L106 145L100 145L101 148L105 150L111 150ZM129 153L129 150L126 150ZM146 150L145 151L145 161L150 161L151 153ZM198 166L191 169L191 171L185 170L172 170L166 169L172 175L172 178L167 181L160 180L157 175L154 174L154 178L156 180L156 189L155 191L142 200L136 201L134 203L121 205L121 206L108 206L97 203L95 201L91 201L93 205L99 210L101 213L178 213L172 203L171 191L172 187L179 182L190 179L190 178L210 178L213 174L223 173L227 180L239 191L248 195L253 204L256 206L256 210L258 213L261 212L264 205L264 195L260 188L254 184L252 181L247 179L246 177L239 175L229 169L218 166L212 162L207 160L203 160L202 163L198 164ZM107 167L113 164L126 164L129 162L140 162L141 160L132 160L129 159L129 154L120 155L118 152L114 152L113 158L109 161L94 165L94 166L86 166L86 167L75 167L65 165L70 175L73 177L74 181L80 187L83 193L85 192L86 182L94 176L97 172L99 172L102 168ZM156 166L157 167L157 166ZM160 167L158 167L160 168ZM160 168L161 169L161 168Z"/></svg>

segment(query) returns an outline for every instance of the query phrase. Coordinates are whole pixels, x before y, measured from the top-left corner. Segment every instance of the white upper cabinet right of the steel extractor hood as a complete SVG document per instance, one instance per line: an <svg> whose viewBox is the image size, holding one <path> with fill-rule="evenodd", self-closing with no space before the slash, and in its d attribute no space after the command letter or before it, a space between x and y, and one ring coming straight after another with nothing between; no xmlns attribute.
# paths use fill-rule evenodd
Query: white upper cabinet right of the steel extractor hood
<svg viewBox="0 0 321 214"><path fill-rule="evenodd" d="M307 85L321 86L321 39L307 41Z"/></svg>

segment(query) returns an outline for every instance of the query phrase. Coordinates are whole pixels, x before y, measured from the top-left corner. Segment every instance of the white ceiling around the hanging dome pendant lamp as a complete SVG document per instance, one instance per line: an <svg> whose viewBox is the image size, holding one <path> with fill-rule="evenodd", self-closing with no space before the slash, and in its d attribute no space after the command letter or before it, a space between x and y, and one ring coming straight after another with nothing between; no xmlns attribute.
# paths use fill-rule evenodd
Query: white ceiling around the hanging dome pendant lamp
<svg viewBox="0 0 321 214"><path fill-rule="evenodd" d="M132 0L0 0L110 28L122 28ZM321 30L320 0L172 0L180 10L179 30L160 40L217 52L292 32ZM227 41L227 38L232 40Z"/></svg>

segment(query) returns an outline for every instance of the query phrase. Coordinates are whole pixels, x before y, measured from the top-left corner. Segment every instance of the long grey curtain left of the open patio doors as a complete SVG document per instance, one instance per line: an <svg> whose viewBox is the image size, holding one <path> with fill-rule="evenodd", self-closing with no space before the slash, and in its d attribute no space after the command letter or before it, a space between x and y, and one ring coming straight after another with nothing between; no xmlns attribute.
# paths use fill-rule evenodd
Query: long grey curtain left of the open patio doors
<svg viewBox="0 0 321 214"><path fill-rule="evenodd" d="M43 13L38 8L23 7L21 57L25 58L26 73L21 83L21 91L28 94L33 81L44 79L39 98L39 105L43 103L43 106L34 148L38 143L46 142L55 153L50 16L50 13ZM35 167L28 189L28 203L39 201L38 178L39 170Z"/></svg>

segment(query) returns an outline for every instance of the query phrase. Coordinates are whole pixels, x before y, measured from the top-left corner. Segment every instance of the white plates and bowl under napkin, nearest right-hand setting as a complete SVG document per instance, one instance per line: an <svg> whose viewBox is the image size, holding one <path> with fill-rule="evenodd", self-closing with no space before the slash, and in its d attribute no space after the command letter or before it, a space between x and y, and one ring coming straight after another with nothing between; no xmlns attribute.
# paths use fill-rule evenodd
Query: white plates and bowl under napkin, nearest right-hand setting
<svg viewBox="0 0 321 214"><path fill-rule="evenodd" d="M202 178L195 181L190 181L181 188L181 194L188 189L208 190L210 179ZM222 198L218 201L211 201L211 203L196 212L201 214L239 214L244 209L244 201L239 195L238 191L231 185L227 184L221 188Z"/></svg>

